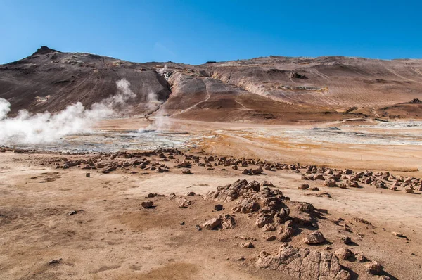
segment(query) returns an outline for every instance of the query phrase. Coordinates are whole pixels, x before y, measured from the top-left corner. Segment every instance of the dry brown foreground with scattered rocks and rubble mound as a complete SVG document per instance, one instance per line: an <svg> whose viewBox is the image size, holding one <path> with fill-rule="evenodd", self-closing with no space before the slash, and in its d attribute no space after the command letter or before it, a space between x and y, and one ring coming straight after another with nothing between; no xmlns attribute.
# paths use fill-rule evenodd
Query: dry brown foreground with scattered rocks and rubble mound
<svg viewBox="0 0 422 280"><path fill-rule="evenodd" d="M364 170L175 150L0 156L1 279L422 278L405 174L394 191L387 170L380 188Z"/></svg>

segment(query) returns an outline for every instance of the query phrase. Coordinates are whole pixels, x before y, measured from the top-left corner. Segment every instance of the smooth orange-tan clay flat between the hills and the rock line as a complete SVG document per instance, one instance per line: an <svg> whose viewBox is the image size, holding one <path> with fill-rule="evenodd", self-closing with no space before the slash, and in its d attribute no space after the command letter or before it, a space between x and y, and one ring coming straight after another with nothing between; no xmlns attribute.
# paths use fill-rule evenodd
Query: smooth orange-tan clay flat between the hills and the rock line
<svg viewBox="0 0 422 280"><path fill-rule="evenodd" d="M394 170L421 177L422 126L409 123L397 122L395 127L395 122L390 122L390 127L383 127L376 121L358 119L314 125L256 125L165 118L160 127L191 133L198 152L356 170ZM102 121L96 128L130 130L148 124L143 118L130 118ZM316 137L312 131L315 127L339 127L345 135ZM354 136L357 133L363 136Z"/></svg>

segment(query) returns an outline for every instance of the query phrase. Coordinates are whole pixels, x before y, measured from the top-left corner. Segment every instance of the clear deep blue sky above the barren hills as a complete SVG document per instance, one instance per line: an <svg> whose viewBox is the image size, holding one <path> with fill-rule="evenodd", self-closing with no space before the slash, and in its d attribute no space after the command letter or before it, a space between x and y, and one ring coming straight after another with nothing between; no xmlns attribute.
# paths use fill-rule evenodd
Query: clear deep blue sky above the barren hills
<svg viewBox="0 0 422 280"><path fill-rule="evenodd" d="M0 64L41 45L128 61L422 58L421 1L0 0Z"/></svg>

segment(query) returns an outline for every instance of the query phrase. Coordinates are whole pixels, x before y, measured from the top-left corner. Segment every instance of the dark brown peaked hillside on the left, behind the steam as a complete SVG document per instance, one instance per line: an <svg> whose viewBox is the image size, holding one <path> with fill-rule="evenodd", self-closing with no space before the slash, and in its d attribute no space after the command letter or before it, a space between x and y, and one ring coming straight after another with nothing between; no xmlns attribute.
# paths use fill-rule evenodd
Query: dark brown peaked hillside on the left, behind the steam
<svg viewBox="0 0 422 280"><path fill-rule="evenodd" d="M168 84L155 70L90 53L61 53L45 46L27 58L0 66L0 98L12 112L63 110L71 103L85 106L116 94L116 84L127 79L136 94L132 101L143 110L148 94L164 102Z"/></svg>

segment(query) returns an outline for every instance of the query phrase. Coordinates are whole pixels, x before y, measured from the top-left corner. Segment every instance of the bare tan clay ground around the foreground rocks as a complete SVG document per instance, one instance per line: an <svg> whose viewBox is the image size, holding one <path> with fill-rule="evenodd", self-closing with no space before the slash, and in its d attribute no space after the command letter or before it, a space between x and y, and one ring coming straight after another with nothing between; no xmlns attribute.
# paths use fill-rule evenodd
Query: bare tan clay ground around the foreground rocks
<svg viewBox="0 0 422 280"><path fill-rule="evenodd" d="M213 210L215 201L188 197L194 203L181 209L167 197L155 197L151 199L156 208L140 206L151 192L205 194L241 178L270 181L284 196L328 210L319 227L333 250L344 246L339 234L347 234L354 241L348 247L380 262L392 279L422 276L420 192L373 186L327 188L322 181L309 182L331 194L331 198L318 197L299 190L300 174L290 170L247 176L230 167L193 166L189 175L172 168L172 163L167 163L170 172L165 173L90 170L87 178L86 170L57 170L45 164L64 155L7 152L0 156L1 279L293 279L253 266L260 251L274 252L280 243L264 241L262 230L253 227L246 215L235 215L234 229L198 231L196 224L219 214ZM88 156L65 155L70 159ZM223 204L222 212L231 213L233 203ZM84 211L68 215L72 210ZM350 224L352 232L333 224L339 217ZM373 227L353 222L353 217L364 218ZM391 231L407 238L393 236ZM243 241L235 236L257 238L255 248L241 248L238 244ZM292 243L299 245L301 236ZM50 264L52 260L60 261ZM378 279L362 264L343 261L342 265L359 279Z"/></svg>

